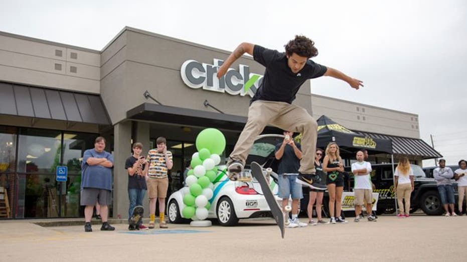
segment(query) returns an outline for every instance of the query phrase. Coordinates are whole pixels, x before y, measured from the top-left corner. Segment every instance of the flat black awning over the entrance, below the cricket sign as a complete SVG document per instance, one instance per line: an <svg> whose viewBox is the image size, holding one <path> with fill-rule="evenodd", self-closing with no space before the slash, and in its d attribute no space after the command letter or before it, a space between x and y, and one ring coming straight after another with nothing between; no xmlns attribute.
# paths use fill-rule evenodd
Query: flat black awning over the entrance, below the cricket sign
<svg viewBox="0 0 467 262"><path fill-rule="evenodd" d="M174 123L228 130L243 130L247 117L233 114L187 109L155 103L142 103L126 112L126 117L135 120ZM282 133L273 126L266 126L263 133Z"/></svg>

